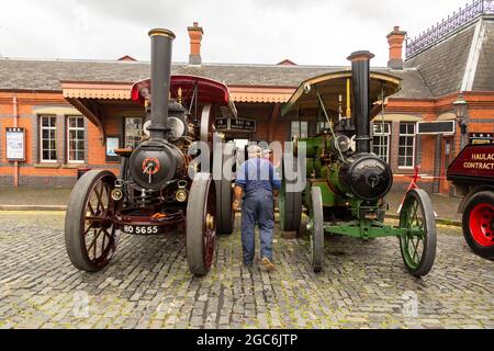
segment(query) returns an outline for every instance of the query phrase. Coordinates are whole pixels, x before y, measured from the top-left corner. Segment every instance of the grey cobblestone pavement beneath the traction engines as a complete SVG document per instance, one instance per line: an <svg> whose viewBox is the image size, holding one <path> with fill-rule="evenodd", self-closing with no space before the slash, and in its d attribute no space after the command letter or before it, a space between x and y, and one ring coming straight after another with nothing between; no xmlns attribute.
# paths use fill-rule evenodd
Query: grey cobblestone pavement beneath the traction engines
<svg viewBox="0 0 494 351"><path fill-rule="evenodd" d="M122 236L111 264L89 274L67 258L64 213L0 212L0 328L494 328L494 262L459 228L440 228L423 280L394 238L329 238L316 275L307 242L278 234L278 270L250 273L238 233L220 238L198 279L182 236Z"/></svg>

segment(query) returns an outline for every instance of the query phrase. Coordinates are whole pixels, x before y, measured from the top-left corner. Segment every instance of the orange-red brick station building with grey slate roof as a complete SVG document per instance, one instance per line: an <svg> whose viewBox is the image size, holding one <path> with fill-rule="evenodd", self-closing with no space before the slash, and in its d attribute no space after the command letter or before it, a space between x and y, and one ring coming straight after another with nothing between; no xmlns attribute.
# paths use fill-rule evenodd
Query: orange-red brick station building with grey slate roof
<svg viewBox="0 0 494 351"><path fill-rule="evenodd" d="M403 188L417 165L429 191L449 193L446 168L463 145L494 140L494 2L478 0L403 48L406 33L388 35L388 67L403 79L374 121L374 151L385 158ZM238 115L257 121L255 133L236 139L290 140L316 133L315 118L299 125L281 117L281 105L308 78L348 69L336 66L205 64L203 30L188 27L189 63L172 72L224 81ZM149 64L124 56L116 61L0 59L0 185L70 186L79 169L117 172L119 160L106 155L106 141L133 146L142 132L144 111L131 100L132 83L149 77ZM454 121L453 102L462 93L469 113ZM442 123L435 123L442 122ZM454 126L453 129L452 126ZM22 161L7 158L7 128L25 131ZM448 129L450 129L448 132ZM11 131L11 129L9 129ZM15 129L14 129L15 131Z"/></svg>

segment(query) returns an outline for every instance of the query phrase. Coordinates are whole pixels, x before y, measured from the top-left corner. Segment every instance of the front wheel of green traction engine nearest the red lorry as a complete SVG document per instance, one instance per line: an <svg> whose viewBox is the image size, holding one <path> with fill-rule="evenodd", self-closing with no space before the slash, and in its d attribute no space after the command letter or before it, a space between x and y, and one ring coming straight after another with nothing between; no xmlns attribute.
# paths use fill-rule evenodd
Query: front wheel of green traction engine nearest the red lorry
<svg viewBox="0 0 494 351"><path fill-rule="evenodd" d="M406 229L406 235L400 237L400 247L407 270L414 276L427 275L436 258L436 217L424 190L406 194L400 227Z"/></svg>

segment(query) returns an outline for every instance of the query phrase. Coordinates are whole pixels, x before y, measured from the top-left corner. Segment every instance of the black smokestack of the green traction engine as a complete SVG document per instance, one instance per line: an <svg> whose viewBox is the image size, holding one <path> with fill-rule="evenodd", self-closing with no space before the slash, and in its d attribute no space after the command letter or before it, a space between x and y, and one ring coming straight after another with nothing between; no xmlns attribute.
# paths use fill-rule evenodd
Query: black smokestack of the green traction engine
<svg viewBox="0 0 494 351"><path fill-rule="evenodd" d="M369 154L370 148L370 60L374 55L370 52L356 52L348 59L351 61L353 113L357 129L357 152Z"/></svg>

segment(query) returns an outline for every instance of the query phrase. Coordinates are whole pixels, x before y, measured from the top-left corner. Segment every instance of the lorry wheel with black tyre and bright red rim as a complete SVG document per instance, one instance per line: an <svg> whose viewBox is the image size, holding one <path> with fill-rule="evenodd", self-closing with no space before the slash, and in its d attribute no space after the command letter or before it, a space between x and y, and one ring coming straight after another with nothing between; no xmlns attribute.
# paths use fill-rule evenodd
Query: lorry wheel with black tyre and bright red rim
<svg viewBox="0 0 494 351"><path fill-rule="evenodd" d="M494 260L494 193L483 191L470 197L463 212L463 236L473 252Z"/></svg>

